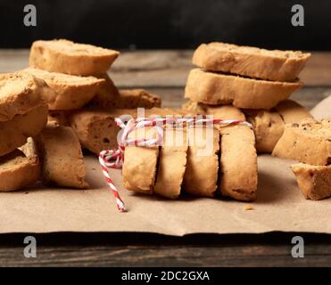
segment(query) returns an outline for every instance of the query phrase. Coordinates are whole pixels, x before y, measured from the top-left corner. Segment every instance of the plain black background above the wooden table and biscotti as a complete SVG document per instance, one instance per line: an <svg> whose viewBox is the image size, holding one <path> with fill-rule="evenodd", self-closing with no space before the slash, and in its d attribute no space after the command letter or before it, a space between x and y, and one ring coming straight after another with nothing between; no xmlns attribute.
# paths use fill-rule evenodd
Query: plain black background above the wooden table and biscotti
<svg viewBox="0 0 331 285"><path fill-rule="evenodd" d="M25 4L37 27L23 25ZM305 26L293 27L302 4ZM194 48L223 41L267 48L331 50L331 0L0 0L0 47L68 38L112 48Z"/></svg>

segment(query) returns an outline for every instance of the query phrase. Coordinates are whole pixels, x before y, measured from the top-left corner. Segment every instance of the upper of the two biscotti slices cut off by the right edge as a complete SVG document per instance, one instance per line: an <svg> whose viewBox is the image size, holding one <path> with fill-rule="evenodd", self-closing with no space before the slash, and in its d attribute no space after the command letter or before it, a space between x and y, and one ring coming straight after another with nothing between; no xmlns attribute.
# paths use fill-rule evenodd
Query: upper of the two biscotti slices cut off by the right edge
<svg viewBox="0 0 331 285"><path fill-rule="evenodd" d="M300 123L286 124L272 155L326 166L331 160L331 120L307 118Z"/></svg>

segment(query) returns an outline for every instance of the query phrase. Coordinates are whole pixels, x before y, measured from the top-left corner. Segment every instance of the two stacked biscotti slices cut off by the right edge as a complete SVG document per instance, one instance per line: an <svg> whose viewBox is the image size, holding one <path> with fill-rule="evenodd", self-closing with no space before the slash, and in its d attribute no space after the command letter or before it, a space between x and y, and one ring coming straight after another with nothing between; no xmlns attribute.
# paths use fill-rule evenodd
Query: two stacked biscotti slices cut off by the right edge
<svg viewBox="0 0 331 285"><path fill-rule="evenodd" d="M300 161L291 168L306 199L331 196L331 120L286 124L272 155Z"/></svg>

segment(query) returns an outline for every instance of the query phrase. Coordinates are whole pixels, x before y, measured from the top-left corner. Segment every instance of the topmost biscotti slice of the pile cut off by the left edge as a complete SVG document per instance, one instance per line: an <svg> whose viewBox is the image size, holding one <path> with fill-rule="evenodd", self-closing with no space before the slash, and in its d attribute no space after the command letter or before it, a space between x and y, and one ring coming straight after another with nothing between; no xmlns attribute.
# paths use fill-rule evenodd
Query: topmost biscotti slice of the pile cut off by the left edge
<svg viewBox="0 0 331 285"><path fill-rule="evenodd" d="M54 94L45 81L23 72L0 75L0 122L8 121L45 104L43 96Z"/></svg>

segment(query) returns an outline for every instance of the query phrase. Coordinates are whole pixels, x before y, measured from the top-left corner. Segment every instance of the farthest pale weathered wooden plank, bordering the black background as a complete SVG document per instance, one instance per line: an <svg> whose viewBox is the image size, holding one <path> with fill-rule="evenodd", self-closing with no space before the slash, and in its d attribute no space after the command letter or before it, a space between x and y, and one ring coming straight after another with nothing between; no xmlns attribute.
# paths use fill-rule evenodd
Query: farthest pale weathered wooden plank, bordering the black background
<svg viewBox="0 0 331 285"><path fill-rule="evenodd" d="M124 51L110 75L119 87L183 87L190 69L192 51ZM1 50L0 72L28 66L29 50ZM308 86L331 86L331 53L314 52L301 74Z"/></svg>

